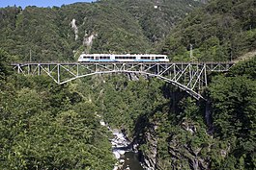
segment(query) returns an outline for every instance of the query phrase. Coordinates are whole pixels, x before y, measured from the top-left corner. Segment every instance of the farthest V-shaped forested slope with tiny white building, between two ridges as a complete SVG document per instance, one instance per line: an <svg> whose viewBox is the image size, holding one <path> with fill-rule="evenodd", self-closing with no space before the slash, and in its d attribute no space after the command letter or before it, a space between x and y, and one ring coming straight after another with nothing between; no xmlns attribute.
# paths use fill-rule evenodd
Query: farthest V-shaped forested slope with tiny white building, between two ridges
<svg viewBox="0 0 256 170"><path fill-rule="evenodd" d="M122 7L132 14L152 42L166 36L188 12L201 5L193 0L104 0L102 3Z"/></svg>

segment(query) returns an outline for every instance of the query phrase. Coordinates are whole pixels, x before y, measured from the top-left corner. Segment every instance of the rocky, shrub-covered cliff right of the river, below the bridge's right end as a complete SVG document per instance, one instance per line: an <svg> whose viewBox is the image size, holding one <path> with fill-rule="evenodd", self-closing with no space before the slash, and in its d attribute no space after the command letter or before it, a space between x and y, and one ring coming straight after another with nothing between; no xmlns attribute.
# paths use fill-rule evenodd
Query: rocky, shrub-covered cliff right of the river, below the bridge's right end
<svg viewBox="0 0 256 170"><path fill-rule="evenodd" d="M202 122L205 115L197 105L205 106L205 103L195 104L175 88L170 91L169 86L162 90L170 99L168 106L161 106L162 110L141 118L135 128L145 167L152 170L209 169L210 155L221 155L221 150L214 150L218 141L207 133L207 122ZM194 116L197 118L191 118ZM223 151L228 152L228 148Z"/></svg>

